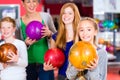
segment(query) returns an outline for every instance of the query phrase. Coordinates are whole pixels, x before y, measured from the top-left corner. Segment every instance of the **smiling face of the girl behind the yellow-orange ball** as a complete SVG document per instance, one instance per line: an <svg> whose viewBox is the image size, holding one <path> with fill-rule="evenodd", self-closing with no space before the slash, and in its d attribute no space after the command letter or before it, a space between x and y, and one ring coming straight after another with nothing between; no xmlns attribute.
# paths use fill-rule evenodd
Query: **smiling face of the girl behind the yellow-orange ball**
<svg viewBox="0 0 120 80"><path fill-rule="evenodd" d="M84 20L80 22L78 34L82 41L89 41L90 43L93 43L97 30L95 30L91 21Z"/></svg>

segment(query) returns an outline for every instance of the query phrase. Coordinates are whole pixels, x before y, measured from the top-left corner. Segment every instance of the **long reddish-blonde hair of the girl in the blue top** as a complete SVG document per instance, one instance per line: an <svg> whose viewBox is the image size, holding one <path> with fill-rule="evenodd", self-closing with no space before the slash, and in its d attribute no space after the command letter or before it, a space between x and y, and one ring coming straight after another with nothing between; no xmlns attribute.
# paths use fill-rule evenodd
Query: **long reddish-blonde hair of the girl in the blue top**
<svg viewBox="0 0 120 80"><path fill-rule="evenodd" d="M78 26L78 23L80 22L80 18L81 18L79 10L74 3L66 3L62 6L61 11L60 11L58 34L57 34L57 38L56 38L56 46L61 48L61 49L65 49L65 46L66 46L66 29L65 29L65 24L62 21L62 15L64 14L64 10L67 7L72 8L72 10L74 12L74 20L72 23L73 32L74 32L74 39L75 39L75 35L77 32L76 31L77 26Z"/></svg>

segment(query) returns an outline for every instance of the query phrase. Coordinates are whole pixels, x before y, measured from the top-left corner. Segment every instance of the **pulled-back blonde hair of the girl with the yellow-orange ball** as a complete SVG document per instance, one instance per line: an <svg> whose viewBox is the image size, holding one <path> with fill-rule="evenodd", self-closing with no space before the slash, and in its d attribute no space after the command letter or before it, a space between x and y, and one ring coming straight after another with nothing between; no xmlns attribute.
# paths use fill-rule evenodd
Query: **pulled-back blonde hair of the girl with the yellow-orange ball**
<svg viewBox="0 0 120 80"><path fill-rule="evenodd" d="M97 22L96 22L95 19L90 18L90 17L83 17L83 18L80 20L80 22L86 21L86 20L87 20L87 21L90 21L90 22L93 24L94 29L97 30L97 31L99 31L99 27L98 27L98 24L97 24ZM80 24L80 23L79 23L79 24ZM78 25L78 29L77 29L77 30L79 31L79 25ZM81 39L80 39L80 40L81 40ZM94 36L93 43L96 45L96 36Z"/></svg>

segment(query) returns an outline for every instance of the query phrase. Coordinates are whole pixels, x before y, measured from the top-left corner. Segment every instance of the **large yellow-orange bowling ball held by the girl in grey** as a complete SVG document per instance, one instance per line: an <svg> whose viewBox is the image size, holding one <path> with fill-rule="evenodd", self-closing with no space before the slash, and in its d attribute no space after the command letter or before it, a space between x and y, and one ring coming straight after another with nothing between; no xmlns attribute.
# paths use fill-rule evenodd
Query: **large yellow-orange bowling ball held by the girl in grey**
<svg viewBox="0 0 120 80"><path fill-rule="evenodd" d="M70 48L69 61L77 69L86 69L97 58L96 49L89 42L79 41Z"/></svg>

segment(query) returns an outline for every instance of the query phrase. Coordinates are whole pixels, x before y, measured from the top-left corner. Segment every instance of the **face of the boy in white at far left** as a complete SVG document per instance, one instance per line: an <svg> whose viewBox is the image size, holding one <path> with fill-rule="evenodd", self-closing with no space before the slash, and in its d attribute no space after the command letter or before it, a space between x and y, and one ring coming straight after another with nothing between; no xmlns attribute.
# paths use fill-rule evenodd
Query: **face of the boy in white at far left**
<svg viewBox="0 0 120 80"><path fill-rule="evenodd" d="M13 37L15 30L16 28L13 27L13 24L11 22L4 21L1 23L1 33L4 38Z"/></svg>

